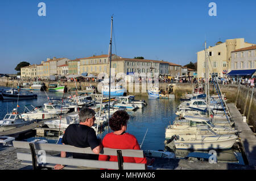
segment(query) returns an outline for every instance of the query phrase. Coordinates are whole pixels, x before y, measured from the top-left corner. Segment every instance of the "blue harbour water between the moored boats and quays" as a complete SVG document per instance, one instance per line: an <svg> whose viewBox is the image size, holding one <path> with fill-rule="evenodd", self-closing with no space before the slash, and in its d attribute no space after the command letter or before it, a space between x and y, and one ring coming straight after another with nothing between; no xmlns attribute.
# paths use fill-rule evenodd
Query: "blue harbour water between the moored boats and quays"
<svg viewBox="0 0 256 181"><path fill-rule="evenodd" d="M0 87L4 88L4 87ZM31 100L19 100L18 101L18 112L24 111L26 104L32 104L35 106L42 106L43 103L48 102L47 96L53 99L61 99L63 96L62 92L44 92L44 91L33 91L38 94L37 99ZM65 97L70 94L64 94ZM180 101L177 99L148 99L147 96L135 96L135 99L144 99L147 102L147 106L134 111L130 116L129 123L127 125L127 132L133 134L143 150L167 150L170 151L164 145L165 140L165 129L168 125L172 124L176 118L175 111L179 106ZM11 112L17 106L17 100L12 101L0 101L0 119L6 115L7 111ZM101 139L108 132L112 132L111 129L105 127L102 134L99 136ZM32 141L36 137L28 138L27 141ZM57 137L43 137L49 143L56 143ZM183 158L191 151L188 150L171 150L176 153L176 157ZM202 151L201 151L202 152ZM225 162L236 162L236 159L240 159L240 164L243 163L241 153L237 149L230 149L224 151L216 150L217 155L221 156L221 159ZM204 152L207 153L207 152ZM208 153L207 153L208 154Z"/></svg>

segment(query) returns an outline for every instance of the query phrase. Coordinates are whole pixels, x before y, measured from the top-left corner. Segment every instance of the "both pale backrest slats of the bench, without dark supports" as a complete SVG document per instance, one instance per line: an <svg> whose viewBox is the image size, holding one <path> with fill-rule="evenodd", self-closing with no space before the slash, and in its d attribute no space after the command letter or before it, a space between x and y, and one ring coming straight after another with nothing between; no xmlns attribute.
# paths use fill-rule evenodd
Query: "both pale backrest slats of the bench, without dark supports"
<svg viewBox="0 0 256 181"><path fill-rule="evenodd" d="M27 141L13 141L14 148L23 148L30 149L30 142ZM44 151L66 151L71 153L86 153L94 154L90 148L77 148L71 145L58 145L58 144L42 144L42 143L33 143L35 150L44 150ZM117 152L121 153L122 157L137 157L143 158L143 150L121 150L121 149L110 149L103 148L101 150L102 155L115 155L118 156ZM37 155L40 157L41 155ZM17 158L23 161L32 161L31 154L28 153L17 153ZM77 158L61 158L51 155L44 156L45 163L52 164L62 164L70 166L83 166L83 167L93 167L93 168L104 168L104 169L118 169L118 162L109 162L109 161L96 161L90 159L77 159ZM42 163L43 165L43 163ZM144 170L146 165L143 163L122 163L123 169L133 169L133 170Z"/></svg>

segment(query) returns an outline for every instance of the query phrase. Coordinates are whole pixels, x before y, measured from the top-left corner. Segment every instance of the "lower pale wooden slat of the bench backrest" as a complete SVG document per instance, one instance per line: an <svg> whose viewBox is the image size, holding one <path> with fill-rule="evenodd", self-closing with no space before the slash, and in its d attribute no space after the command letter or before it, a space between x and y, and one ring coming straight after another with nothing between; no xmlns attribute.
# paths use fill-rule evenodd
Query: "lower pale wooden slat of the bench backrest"
<svg viewBox="0 0 256 181"><path fill-rule="evenodd" d="M31 154L28 153L17 153L17 158L23 161L32 161ZM77 159L77 158L61 158L46 155L46 163L62 164L70 166L82 166L82 167L93 167L93 168L104 168L104 169L118 169L117 162L110 161L97 161L90 159ZM145 164L142 163L123 163L124 170L144 170Z"/></svg>

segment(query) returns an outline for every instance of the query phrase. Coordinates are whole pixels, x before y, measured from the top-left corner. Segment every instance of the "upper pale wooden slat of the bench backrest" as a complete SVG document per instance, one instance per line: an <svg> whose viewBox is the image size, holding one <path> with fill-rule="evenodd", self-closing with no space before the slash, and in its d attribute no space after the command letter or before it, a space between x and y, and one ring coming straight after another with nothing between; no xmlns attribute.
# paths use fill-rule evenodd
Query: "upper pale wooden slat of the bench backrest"
<svg viewBox="0 0 256 181"><path fill-rule="evenodd" d="M27 148L30 149L30 142L27 141L13 141L14 148ZM51 151L66 151L71 153L87 153L94 154L90 148L77 148L71 145L57 145L57 144L40 144L34 143L35 150L51 150ZM117 155L117 150L121 149L110 149L103 148L100 154L104 155ZM123 157L137 157L143 158L143 150L122 150Z"/></svg>

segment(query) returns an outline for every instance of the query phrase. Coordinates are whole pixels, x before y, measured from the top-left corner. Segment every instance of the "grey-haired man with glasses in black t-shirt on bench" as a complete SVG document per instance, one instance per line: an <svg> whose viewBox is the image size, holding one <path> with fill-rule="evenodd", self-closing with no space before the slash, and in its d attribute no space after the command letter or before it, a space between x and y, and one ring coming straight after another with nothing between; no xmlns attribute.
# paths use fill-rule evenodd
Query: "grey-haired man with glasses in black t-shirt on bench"
<svg viewBox="0 0 256 181"><path fill-rule="evenodd" d="M98 154L102 149L100 140L98 140L96 133L93 128L94 121L96 120L94 115L96 113L90 108L82 108L79 112L79 124L70 124L65 130L62 138L63 145L72 145L79 148L92 149L95 154L82 154L73 153L73 158L80 159L98 159ZM61 157L66 157L66 152L61 151ZM55 165L55 170L61 170L64 165Z"/></svg>

